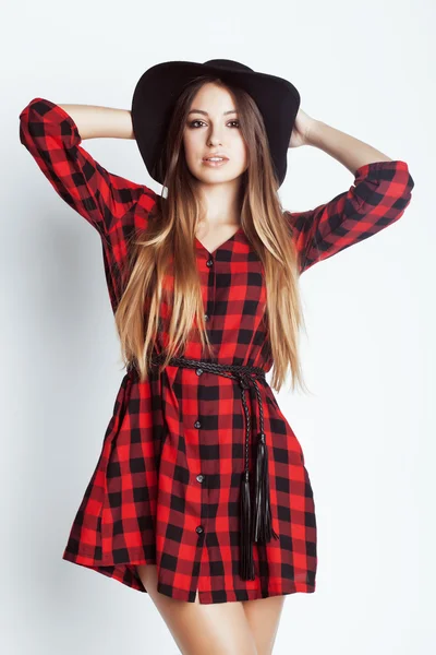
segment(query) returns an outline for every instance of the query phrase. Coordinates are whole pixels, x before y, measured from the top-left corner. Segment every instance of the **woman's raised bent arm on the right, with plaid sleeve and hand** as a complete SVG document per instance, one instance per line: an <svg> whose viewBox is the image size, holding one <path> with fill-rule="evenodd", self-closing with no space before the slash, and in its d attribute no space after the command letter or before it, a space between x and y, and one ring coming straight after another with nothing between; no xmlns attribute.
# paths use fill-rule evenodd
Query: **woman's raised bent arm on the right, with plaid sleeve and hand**
<svg viewBox="0 0 436 655"><path fill-rule="evenodd" d="M390 159L300 108L289 147L301 145L323 150L354 175L354 183L329 202L284 212L303 272L398 221L411 201L414 180L405 162Z"/></svg>

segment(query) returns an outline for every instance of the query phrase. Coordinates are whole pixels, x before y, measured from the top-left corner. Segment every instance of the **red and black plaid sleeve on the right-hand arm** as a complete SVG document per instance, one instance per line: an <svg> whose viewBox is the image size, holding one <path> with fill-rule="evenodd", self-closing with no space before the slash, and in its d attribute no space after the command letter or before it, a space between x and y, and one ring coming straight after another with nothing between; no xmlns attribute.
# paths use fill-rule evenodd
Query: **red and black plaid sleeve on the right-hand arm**
<svg viewBox="0 0 436 655"><path fill-rule="evenodd" d="M358 168L350 189L330 202L306 212L284 212L300 272L398 221L413 187L405 162L373 162Z"/></svg>

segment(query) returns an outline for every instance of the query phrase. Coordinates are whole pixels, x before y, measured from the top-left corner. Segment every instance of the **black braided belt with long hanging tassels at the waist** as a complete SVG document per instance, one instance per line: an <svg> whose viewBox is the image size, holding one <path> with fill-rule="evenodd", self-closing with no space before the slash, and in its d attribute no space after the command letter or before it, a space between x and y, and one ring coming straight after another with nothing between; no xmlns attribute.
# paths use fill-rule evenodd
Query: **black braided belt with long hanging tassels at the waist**
<svg viewBox="0 0 436 655"><path fill-rule="evenodd" d="M164 361L164 354L153 355L152 364L159 365ZM194 368L198 372L208 371L237 380L241 386L241 400L245 414L245 466L241 477L240 499L240 575L243 580L254 580L253 543L265 544L278 535L272 529L271 510L269 499L268 454L266 448L266 434L264 431L264 409L257 379L265 379L265 371L259 367L244 365L223 365L208 361L206 359L189 359L183 356L172 357L169 361L172 366ZM201 373L199 373L201 374ZM249 406L245 398L245 390L253 388L256 393L259 432L257 433L257 455L254 480L254 504L252 510L249 453L251 419ZM252 516L253 513L253 516Z"/></svg>

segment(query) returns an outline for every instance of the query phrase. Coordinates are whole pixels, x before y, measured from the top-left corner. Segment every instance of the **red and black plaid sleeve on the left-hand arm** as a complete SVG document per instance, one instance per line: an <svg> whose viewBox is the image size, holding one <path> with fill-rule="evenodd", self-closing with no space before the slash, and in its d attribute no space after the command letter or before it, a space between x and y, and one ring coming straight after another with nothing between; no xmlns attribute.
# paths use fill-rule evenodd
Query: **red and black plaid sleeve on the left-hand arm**
<svg viewBox="0 0 436 655"><path fill-rule="evenodd" d="M116 228L144 192L154 194L100 166L80 145L72 117L48 99L34 98L20 114L20 141L58 194L101 236Z"/></svg>

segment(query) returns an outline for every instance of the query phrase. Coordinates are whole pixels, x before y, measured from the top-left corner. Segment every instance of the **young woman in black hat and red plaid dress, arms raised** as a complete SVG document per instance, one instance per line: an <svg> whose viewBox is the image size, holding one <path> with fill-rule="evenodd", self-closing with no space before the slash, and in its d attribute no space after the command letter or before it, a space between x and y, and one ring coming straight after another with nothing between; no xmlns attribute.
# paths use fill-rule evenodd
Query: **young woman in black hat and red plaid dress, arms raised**
<svg viewBox="0 0 436 655"><path fill-rule="evenodd" d="M408 164L307 116L288 81L165 62L132 111L33 99L20 138L98 231L128 367L63 558L147 592L182 653L269 654L284 596L313 593L316 520L277 391L303 386L299 276L391 225ZM85 139L136 139L158 194ZM289 147L354 183L306 212L278 196Z"/></svg>

